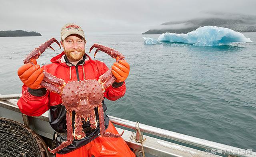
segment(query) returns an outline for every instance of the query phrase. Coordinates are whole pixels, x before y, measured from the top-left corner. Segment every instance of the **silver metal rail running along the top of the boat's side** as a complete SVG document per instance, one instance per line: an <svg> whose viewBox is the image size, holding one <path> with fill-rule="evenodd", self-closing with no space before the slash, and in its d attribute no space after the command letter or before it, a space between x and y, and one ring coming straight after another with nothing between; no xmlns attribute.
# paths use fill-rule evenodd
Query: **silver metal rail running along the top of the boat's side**
<svg viewBox="0 0 256 157"><path fill-rule="evenodd" d="M21 94L0 95L0 100L20 98L20 95ZM124 120L124 119L113 117L113 116L109 116L109 118L113 124L116 124L118 126L123 126L126 128L130 128L130 129L134 129L134 130L136 129L136 122L132 122L130 120ZM228 153L229 155L235 155L238 157L256 157L256 152L253 152L250 149L241 149L238 147L233 147L230 145L225 145L225 144L221 144L221 143L217 143L217 142L213 142L213 141L208 141L205 139L200 139L200 138L192 137L189 135L184 135L181 133L168 131L168 130L164 130L161 128L148 126L145 124L140 124L139 129L141 132L144 132L144 133L149 133L152 135L156 135L158 137L164 137L167 139L171 139L171 140L178 141L181 143L186 143L186 144L200 147L203 149L210 149L210 150L214 149L216 151L218 150L218 152L222 151L223 154ZM238 153L238 152L243 152L243 154Z"/></svg>

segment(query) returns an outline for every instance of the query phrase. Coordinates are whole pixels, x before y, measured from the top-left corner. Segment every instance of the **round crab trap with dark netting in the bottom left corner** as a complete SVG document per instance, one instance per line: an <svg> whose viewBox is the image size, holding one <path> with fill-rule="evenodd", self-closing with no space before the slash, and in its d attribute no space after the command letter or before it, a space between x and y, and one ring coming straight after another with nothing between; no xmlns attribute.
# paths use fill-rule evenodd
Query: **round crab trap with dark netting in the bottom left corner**
<svg viewBox="0 0 256 157"><path fill-rule="evenodd" d="M25 125L0 118L1 157L46 157L44 141Z"/></svg>

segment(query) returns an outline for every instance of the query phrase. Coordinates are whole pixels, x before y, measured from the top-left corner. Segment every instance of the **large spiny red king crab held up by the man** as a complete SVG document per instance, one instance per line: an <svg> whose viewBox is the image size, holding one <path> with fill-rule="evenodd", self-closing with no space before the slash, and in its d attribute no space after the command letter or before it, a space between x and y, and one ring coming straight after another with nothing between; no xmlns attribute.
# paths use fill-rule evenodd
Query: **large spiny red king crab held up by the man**
<svg viewBox="0 0 256 157"><path fill-rule="evenodd" d="M59 46L60 43L54 38L49 39L38 48L34 49L25 59L24 64L32 63L30 59L38 59L38 57L45 51L47 47L53 49L50 45L56 42ZM94 43L90 48L96 47L94 57L96 53L100 50L113 58L119 57L119 60L123 60L124 56L109 47L99 45ZM53 49L54 50L54 49ZM32 63L33 64L33 63ZM108 88L112 83L115 82L116 78L111 73L111 68L106 71L98 80L80 80L71 81L66 83L64 80L57 78L50 73L44 71L44 79L41 82L41 86L61 95L62 105L66 108L66 120L67 120L67 141L62 142L55 149L49 149L51 153L56 153L70 145L73 139L82 139L86 136L82 128L82 121L90 120L91 128L95 129L97 127L97 121L95 118L94 108L98 107L99 121L100 121L100 135L104 137L121 137L121 134L114 134L111 132L106 132L104 126L104 112L102 108L102 100L104 99L104 90ZM72 129L72 111L76 112L74 133Z"/></svg>

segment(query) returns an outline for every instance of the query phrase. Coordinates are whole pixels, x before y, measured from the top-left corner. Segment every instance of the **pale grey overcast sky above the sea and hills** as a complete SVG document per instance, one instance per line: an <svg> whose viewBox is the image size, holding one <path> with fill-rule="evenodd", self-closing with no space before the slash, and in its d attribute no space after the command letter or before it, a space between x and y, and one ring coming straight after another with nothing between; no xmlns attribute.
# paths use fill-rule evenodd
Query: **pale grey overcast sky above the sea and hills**
<svg viewBox="0 0 256 157"><path fill-rule="evenodd" d="M85 34L141 34L216 13L256 16L255 8L256 0L2 0L0 30L59 35L62 26L75 23Z"/></svg>

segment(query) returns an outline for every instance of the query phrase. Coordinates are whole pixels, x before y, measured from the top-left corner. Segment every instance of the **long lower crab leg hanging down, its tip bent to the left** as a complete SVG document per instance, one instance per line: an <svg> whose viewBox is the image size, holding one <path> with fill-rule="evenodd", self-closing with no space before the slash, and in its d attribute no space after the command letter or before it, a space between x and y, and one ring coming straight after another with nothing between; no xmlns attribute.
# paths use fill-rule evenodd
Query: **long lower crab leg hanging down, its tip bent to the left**
<svg viewBox="0 0 256 157"><path fill-rule="evenodd" d="M58 147L56 147L55 149L50 149L48 147L48 151L50 151L51 153L56 153L58 151L60 151L61 149L67 147L68 145L70 145L73 141L73 134L72 134L73 130L72 130L72 111L71 110L67 110L67 140L62 142Z"/></svg>

